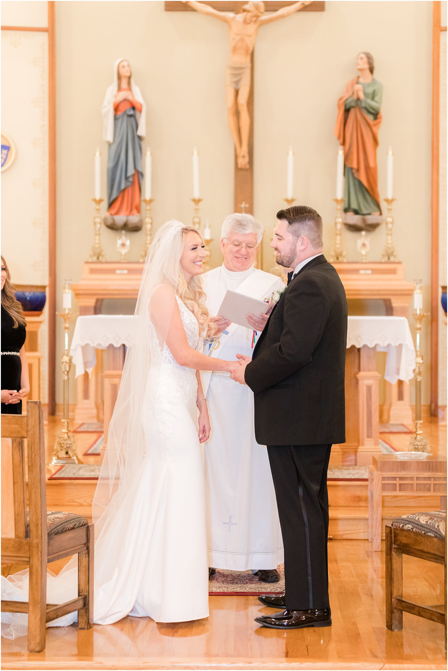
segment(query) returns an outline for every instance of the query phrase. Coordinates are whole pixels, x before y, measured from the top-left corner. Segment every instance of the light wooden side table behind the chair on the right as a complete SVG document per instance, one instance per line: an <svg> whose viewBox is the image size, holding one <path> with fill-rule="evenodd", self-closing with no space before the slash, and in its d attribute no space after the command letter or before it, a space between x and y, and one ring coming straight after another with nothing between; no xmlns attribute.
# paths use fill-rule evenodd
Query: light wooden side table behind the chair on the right
<svg viewBox="0 0 448 671"><path fill-rule="evenodd" d="M368 538L374 551L381 550L382 502L384 495L416 500L447 493L446 458L427 457L424 460L401 460L394 454L373 458L369 466ZM425 505L423 505L425 508ZM406 511L404 510L402 514Z"/></svg>

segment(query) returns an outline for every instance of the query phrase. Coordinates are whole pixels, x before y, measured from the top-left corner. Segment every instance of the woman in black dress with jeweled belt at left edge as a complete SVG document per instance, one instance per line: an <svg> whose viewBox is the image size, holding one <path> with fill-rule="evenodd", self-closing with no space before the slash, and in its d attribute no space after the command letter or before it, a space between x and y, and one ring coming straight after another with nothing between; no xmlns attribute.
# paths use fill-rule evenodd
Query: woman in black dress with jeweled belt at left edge
<svg viewBox="0 0 448 671"><path fill-rule="evenodd" d="M5 259L1 257L1 413L21 415L21 399L30 393L25 354L25 317Z"/></svg>

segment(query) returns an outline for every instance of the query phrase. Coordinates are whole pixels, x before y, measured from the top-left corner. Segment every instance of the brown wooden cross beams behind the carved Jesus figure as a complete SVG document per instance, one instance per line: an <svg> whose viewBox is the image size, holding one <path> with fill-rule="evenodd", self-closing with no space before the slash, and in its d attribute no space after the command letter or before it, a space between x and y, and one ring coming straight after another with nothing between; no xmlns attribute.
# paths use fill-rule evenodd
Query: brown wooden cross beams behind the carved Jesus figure
<svg viewBox="0 0 448 671"><path fill-rule="evenodd" d="M229 0L223 0L219 2L207 2L204 4L210 5L218 11L233 11L235 13L239 13L239 11L242 11L243 5L245 5L246 2L231 2ZM264 7L265 11L276 11L281 7L288 7L288 5L293 4L294 3L292 1L273 1L265 2ZM324 10L325 2L315 1L300 11ZM188 5L185 5L183 2L168 0L165 2L165 11L194 11L194 9L188 7ZM254 52L251 54L251 64L251 85L249 99L247 101L247 109L249 110L251 119L249 130L249 168L238 168L237 157L235 154L235 189L233 193L233 211L237 212L239 211L239 208L242 207L243 212L247 211L249 213L253 213L254 211Z"/></svg>

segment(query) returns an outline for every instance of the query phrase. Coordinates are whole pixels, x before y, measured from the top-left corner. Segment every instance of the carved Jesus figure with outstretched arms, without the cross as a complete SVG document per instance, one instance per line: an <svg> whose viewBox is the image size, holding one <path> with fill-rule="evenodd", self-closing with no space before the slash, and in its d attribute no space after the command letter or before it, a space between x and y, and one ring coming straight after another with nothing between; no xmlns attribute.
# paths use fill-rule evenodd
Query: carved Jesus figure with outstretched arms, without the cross
<svg viewBox="0 0 448 671"><path fill-rule="evenodd" d="M251 53L260 25L283 19L294 12L310 5L311 2L295 2L288 7L282 7L274 13L264 14L263 2L249 2L243 6L239 14L228 11L217 11L210 5L196 0L184 0L186 5L201 14L213 16L229 25L230 58L227 63L225 89L227 97L227 123L235 144L237 165L239 168L249 168L249 128L250 116L247 101L250 92L251 80ZM237 107L239 119L237 117Z"/></svg>

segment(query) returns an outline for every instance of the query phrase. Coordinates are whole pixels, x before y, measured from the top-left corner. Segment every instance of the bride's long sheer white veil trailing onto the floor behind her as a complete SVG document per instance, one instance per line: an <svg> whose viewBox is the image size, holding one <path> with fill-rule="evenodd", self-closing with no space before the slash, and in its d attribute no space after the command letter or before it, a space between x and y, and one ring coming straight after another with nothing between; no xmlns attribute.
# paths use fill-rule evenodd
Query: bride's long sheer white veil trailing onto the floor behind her
<svg viewBox="0 0 448 671"><path fill-rule="evenodd" d="M101 598L120 580L120 568L127 548L126 532L132 522L134 493L142 464L151 449L151 433L144 434L142 406L148 384L152 393L158 388L158 359L166 342L170 315L174 307L178 284L179 260L183 249L182 229L176 219L167 221L158 229L148 250L142 272L133 317L133 337L129 345L113 410L107 448L93 499L95 523L95 581L94 619L104 619L113 606ZM160 285L174 289L172 305L166 306L164 319L156 321L151 315L151 297ZM168 316L167 316L168 315ZM150 418L154 424L154 417ZM146 418L148 426L148 418ZM1 578L1 598L26 601L28 570ZM77 556L74 556L60 574L48 572L47 603L63 603L77 593ZM96 597L100 598L96 600ZM2 613L1 633L8 638L25 635L27 615ZM63 626L76 620L71 613L50 623Z"/></svg>

